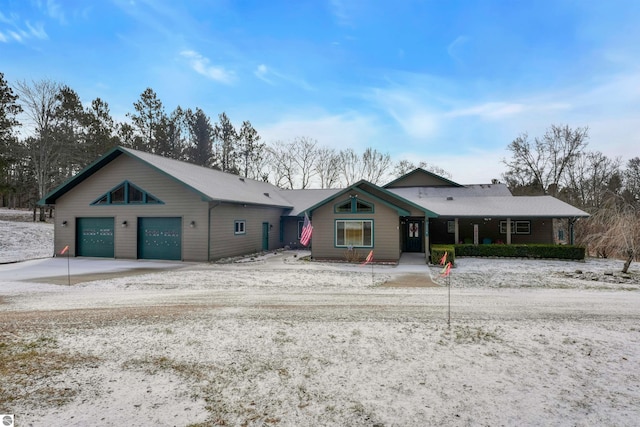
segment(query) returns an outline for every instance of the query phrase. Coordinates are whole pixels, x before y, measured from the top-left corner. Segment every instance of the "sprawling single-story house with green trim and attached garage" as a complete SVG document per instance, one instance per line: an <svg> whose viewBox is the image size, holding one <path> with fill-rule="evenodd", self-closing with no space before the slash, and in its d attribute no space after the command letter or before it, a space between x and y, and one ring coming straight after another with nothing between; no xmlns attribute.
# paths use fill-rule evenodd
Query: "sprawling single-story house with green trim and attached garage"
<svg viewBox="0 0 640 427"><path fill-rule="evenodd" d="M211 168L116 147L46 195L55 253L207 262L300 247L311 256L353 251L397 262L432 244L573 243L585 212L551 196L513 196L504 184L460 185L416 169L384 186L282 190Z"/></svg>

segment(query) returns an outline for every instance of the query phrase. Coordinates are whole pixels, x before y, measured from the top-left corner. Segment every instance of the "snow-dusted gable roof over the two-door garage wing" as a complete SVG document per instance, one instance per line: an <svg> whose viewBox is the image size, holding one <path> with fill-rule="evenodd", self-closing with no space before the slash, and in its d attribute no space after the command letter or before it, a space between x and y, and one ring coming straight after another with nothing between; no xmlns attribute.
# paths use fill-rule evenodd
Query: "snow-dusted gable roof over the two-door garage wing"
<svg viewBox="0 0 640 427"><path fill-rule="evenodd" d="M280 195L280 190L267 182L242 178L238 175L124 147L112 149L38 203L55 204L56 199L60 196L121 155L136 159L169 178L175 179L206 201L293 208L291 203Z"/></svg>

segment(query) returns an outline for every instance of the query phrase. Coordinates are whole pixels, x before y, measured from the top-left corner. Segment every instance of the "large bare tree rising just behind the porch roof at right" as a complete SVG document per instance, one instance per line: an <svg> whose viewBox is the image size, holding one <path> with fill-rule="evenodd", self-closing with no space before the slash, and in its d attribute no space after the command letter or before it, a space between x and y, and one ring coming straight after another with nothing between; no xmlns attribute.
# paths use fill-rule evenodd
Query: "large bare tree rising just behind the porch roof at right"
<svg viewBox="0 0 640 427"><path fill-rule="evenodd" d="M529 141L526 133L509 144L511 159L503 160L508 170L504 179L510 187L524 186L555 196L565 184L567 169L587 145L588 128L551 125L542 138Z"/></svg>

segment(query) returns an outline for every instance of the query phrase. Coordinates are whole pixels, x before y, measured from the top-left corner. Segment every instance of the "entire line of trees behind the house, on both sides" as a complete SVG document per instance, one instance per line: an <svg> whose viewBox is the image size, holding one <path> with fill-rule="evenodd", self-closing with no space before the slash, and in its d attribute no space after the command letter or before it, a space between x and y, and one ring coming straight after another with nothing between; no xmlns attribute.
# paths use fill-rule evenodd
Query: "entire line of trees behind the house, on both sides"
<svg viewBox="0 0 640 427"><path fill-rule="evenodd" d="M340 188L361 179L383 184L421 167L442 168L367 148L336 150L306 136L262 141L249 120L239 127L200 108L167 113L147 88L127 120L117 122L106 101L83 106L69 86L50 80L10 86L0 73L0 206L34 207L49 191L115 146L270 182L280 188ZM622 164L588 149L589 130L551 125L541 135L517 136L501 176L514 195L549 194L591 216L578 222L577 242L600 256L640 255L640 158ZM498 182L498 180L494 180ZM44 213L41 213L44 219Z"/></svg>

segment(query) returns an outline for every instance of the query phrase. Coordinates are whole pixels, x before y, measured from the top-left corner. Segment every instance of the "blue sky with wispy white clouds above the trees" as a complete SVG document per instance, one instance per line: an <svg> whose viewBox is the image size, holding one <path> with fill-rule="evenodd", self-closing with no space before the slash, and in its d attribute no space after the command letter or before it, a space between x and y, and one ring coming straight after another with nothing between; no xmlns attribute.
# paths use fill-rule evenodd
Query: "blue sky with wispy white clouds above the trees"
<svg viewBox="0 0 640 427"><path fill-rule="evenodd" d="M0 71L120 121L151 87L167 113L224 111L265 141L373 147L482 183L551 124L640 156L638 23L636 0L0 0Z"/></svg>

